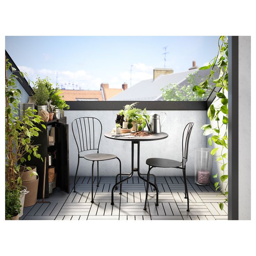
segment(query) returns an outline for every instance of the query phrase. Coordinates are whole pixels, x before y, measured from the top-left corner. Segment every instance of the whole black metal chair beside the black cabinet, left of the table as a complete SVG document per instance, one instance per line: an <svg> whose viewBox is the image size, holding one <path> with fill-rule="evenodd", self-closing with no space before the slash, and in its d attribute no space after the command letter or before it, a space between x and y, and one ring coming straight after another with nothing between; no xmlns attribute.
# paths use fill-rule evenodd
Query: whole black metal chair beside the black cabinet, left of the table
<svg viewBox="0 0 256 256"><path fill-rule="evenodd" d="M101 133L95 133L94 127L95 125L100 126ZM93 200L93 167L94 162L97 161L97 187L99 186L99 161L106 161L117 158L120 164L120 181L121 181L121 161L116 155L112 154L102 154L99 153L99 143L101 142L102 135L102 124L101 122L94 117L80 117L76 118L72 121L72 132L75 138L75 143L77 144L78 149L78 163L77 163L77 171L79 167L79 159L85 158L86 160L93 161L91 167L91 203ZM97 153L87 154L81 156L80 153L88 151L88 150L97 150ZM75 173L75 180L77 178L77 171ZM74 192L75 191L75 180L74 180ZM120 194L121 194L122 186L120 186Z"/></svg>

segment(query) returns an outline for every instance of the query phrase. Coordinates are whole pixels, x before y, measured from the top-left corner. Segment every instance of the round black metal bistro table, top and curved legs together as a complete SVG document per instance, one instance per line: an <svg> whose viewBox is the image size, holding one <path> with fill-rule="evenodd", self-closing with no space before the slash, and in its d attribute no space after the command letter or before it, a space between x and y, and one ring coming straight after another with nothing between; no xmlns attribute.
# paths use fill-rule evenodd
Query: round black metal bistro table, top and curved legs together
<svg viewBox="0 0 256 256"><path fill-rule="evenodd" d="M112 192L111 192L111 205L114 205L114 190L115 188L120 184L120 194L122 194L122 183L127 181L127 179L133 177L133 174L135 171L137 171L139 178L143 179L143 181L147 181L145 178L143 178L143 175L146 174L141 174L139 172L139 146L140 146L140 142L142 141L158 141L159 139L165 139L168 137L167 133L153 133L149 136L136 136L136 137L132 137L132 138L127 138L126 136L122 136L122 137L114 137L112 135L116 135L113 133L105 133L104 136L106 138L109 139L116 139L118 141L131 141L131 173L122 173L122 174L118 174L115 178L115 185L112 188ZM122 135L122 134L120 134ZM137 168L134 168L134 144L137 144L138 150L137 150ZM120 181L117 182L117 177L120 175ZM125 179L121 179L121 175L129 175L127 178ZM153 174L151 174L151 176L154 176ZM157 192L157 202L156 205L158 205L158 188L157 188L157 184L156 184L156 178L154 176L154 181L155 184L149 182L150 185L152 185L154 187L154 189Z"/></svg>

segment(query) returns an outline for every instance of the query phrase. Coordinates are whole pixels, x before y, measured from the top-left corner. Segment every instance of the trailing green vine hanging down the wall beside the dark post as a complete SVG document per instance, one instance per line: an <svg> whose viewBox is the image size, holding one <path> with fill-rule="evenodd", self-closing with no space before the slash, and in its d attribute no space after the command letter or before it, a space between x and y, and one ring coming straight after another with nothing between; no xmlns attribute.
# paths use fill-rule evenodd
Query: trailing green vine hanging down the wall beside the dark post
<svg viewBox="0 0 256 256"><path fill-rule="evenodd" d="M218 54L212 59L207 66L200 67L199 69L211 69L209 76L205 81L201 82L199 86L194 86L193 91L197 92L199 96L205 95L209 90L216 91L217 99L210 105L207 115L210 121L217 121L217 127L211 127L210 124L201 126L204 130L203 135L207 136L214 134L208 138L208 144L213 145L213 142L219 147L211 150L211 154L215 155L218 149L221 150L220 155L215 155L217 157L216 162L221 163L221 175L216 173L213 177L217 178L219 176L220 182L215 182L214 186L216 191L220 191L222 195L225 196L223 203L228 202L228 191L227 191L227 153L223 152L228 149L228 135L227 135L227 125L228 125L228 113L227 108L228 99L225 92L228 91L228 40L227 37L222 35L218 40ZM218 74L218 78L213 80L215 83L215 88L211 89L209 87L209 79L213 77L214 74ZM217 87L221 87L221 90L217 90ZM226 93L227 94L227 93ZM214 104L215 103L215 104ZM220 120L219 115L222 114L222 120ZM223 203L219 203L219 208L223 209Z"/></svg>

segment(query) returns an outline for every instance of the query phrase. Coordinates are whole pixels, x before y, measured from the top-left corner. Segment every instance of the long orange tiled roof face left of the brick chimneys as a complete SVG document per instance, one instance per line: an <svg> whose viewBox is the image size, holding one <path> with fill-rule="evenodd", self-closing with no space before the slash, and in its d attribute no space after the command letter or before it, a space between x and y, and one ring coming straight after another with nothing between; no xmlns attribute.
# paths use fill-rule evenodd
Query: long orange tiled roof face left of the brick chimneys
<svg viewBox="0 0 256 256"><path fill-rule="evenodd" d="M100 90L62 90L65 101L75 101L78 99L98 99L103 101Z"/></svg>

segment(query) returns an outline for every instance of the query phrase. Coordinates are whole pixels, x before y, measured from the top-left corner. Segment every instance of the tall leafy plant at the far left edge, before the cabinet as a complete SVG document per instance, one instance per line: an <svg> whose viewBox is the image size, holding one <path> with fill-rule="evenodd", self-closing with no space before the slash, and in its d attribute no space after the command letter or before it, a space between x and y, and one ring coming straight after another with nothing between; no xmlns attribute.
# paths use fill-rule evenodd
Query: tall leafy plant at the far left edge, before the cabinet
<svg viewBox="0 0 256 256"><path fill-rule="evenodd" d="M11 69L11 74L7 77L7 71ZM21 119L18 115L18 103L21 97L21 90L15 86L16 79L19 79L15 72L24 77L27 75L21 71L16 71L12 64L6 60L5 77L5 176L6 176L6 218L10 219L14 213L19 214L21 203L22 179L19 174L20 164L31 159L31 153L37 158L41 158L38 153L38 146L32 145L32 137L38 136L41 131L35 126L42 119L37 112L30 107L24 111ZM46 128L42 125L43 128ZM42 160L42 158L41 158ZM19 201L19 202L18 202ZM13 209L17 209L14 211Z"/></svg>

